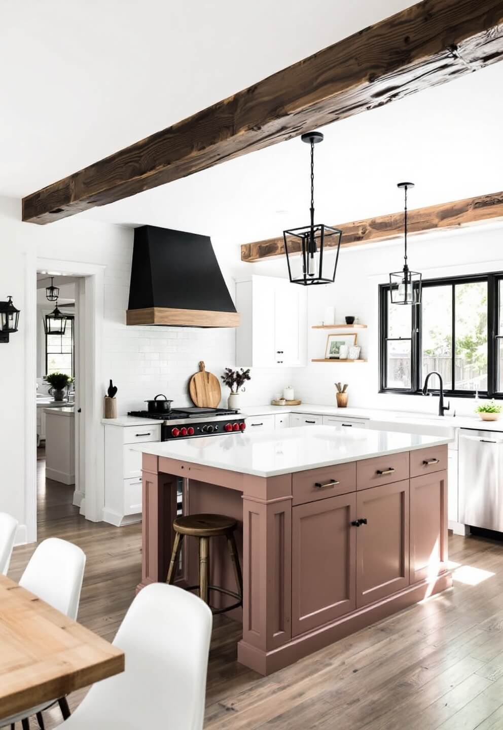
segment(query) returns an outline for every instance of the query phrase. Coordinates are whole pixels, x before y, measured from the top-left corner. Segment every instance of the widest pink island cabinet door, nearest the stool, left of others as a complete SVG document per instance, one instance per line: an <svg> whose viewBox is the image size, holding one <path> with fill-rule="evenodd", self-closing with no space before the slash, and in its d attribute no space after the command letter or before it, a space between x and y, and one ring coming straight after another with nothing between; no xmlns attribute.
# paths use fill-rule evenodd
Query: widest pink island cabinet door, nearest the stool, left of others
<svg viewBox="0 0 503 730"><path fill-rule="evenodd" d="M356 608L356 493L292 509L292 636Z"/></svg>

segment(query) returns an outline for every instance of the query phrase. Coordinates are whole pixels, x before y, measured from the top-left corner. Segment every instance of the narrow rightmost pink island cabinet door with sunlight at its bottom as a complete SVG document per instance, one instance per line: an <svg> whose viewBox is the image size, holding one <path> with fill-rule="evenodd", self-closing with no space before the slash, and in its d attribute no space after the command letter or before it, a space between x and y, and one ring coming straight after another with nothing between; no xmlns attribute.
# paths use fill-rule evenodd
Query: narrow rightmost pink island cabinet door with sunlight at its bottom
<svg viewBox="0 0 503 730"><path fill-rule="evenodd" d="M447 472L410 480L410 583L445 570L448 550Z"/></svg>

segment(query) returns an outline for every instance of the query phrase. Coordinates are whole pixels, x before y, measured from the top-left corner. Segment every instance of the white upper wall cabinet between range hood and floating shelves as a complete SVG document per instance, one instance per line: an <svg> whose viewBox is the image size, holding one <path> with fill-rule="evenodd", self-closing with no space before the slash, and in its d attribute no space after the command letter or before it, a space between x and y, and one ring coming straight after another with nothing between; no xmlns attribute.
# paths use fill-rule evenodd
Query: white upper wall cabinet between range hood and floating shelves
<svg viewBox="0 0 503 730"><path fill-rule="evenodd" d="M236 283L238 367L307 364L307 292L287 279L252 276Z"/></svg>

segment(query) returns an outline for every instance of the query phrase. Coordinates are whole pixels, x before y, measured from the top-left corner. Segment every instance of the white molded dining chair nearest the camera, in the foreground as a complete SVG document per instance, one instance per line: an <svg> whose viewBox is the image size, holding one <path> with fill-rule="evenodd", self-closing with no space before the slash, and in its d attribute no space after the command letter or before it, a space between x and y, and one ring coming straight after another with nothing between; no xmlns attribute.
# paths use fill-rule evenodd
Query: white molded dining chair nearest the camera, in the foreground
<svg viewBox="0 0 503 730"><path fill-rule="evenodd" d="M212 612L188 591L147 585L114 645L126 669L93 685L62 730L201 730Z"/></svg>

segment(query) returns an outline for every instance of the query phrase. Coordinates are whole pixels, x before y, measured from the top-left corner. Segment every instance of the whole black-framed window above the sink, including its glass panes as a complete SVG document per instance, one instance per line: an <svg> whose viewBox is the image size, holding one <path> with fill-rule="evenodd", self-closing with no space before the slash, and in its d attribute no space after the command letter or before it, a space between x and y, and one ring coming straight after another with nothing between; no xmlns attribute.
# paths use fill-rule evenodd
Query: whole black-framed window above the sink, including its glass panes
<svg viewBox="0 0 503 730"><path fill-rule="evenodd" d="M435 370L452 396L503 398L503 272L423 280L411 307L381 285L379 307L381 392L420 393Z"/></svg>

